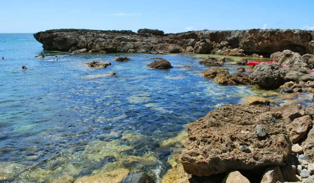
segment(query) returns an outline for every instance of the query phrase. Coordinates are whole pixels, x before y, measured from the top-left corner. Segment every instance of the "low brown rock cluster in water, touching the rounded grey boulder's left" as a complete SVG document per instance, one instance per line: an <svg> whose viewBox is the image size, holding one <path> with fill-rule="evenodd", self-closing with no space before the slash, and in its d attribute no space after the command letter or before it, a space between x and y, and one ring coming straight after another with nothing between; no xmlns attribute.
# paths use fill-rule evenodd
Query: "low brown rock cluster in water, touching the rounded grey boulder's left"
<svg viewBox="0 0 314 183"><path fill-rule="evenodd" d="M250 84L251 78L244 73L229 74L228 68L207 68L202 76L214 78L214 81L221 84Z"/></svg>

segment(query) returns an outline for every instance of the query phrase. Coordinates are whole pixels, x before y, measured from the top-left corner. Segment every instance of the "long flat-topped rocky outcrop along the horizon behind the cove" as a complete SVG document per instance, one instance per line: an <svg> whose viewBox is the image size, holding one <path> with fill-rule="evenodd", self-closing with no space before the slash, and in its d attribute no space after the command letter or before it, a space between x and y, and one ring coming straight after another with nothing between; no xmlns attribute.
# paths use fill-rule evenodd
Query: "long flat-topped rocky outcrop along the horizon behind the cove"
<svg viewBox="0 0 314 183"><path fill-rule="evenodd" d="M49 51L87 49L91 52L196 52L243 56L251 53L274 53L291 50L313 54L314 31L306 30L225 30L190 31L164 34L160 30L84 30L59 29L34 34ZM304 56L304 58L309 56Z"/></svg>

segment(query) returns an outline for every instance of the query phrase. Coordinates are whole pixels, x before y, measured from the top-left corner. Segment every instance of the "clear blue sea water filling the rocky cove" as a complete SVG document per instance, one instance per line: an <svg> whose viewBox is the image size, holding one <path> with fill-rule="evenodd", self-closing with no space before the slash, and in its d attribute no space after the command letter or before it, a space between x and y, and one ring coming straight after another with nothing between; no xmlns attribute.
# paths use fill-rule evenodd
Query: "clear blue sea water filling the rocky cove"
<svg viewBox="0 0 314 183"><path fill-rule="evenodd" d="M106 171L122 166L160 180L171 167L169 139L215 107L257 93L201 77L207 67L192 54L158 56L174 66L159 70L146 67L152 60L145 56L155 57L149 54L34 58L40 51L32 34L0 34L6 58L0 60L0 182L76 179L106 165ZM116 62L116 56L132 60ZM111 65L86 67L92 60ZM224 67L233 73L237 66L227 61ZM116 75L107 76L110 71Z"/></svg>

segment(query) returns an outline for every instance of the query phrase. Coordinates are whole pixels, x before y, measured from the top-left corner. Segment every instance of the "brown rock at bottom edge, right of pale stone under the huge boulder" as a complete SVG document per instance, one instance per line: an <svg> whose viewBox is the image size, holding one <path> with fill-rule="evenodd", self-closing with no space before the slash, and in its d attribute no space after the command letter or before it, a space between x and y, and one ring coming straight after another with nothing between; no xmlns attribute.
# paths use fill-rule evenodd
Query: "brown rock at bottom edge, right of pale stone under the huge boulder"
<svg viewBox="0 0 314 183"><path fill-rule="evenodd" d="M268 167L262 176L261 183L276 183L277 181L284 182L279 166Z"/></svg>

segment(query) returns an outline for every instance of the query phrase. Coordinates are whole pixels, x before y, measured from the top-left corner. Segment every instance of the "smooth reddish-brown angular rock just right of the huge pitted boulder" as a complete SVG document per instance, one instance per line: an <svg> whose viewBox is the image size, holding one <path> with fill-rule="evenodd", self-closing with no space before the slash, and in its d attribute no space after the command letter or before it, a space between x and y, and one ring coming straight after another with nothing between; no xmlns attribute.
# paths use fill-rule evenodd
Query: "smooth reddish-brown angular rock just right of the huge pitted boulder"
<svg viewBox="0 0 314 183"><path fill-rule="evenodd" d="M306 135L307 129L312 124L310 116L303 116L293 120L292 123L286 125L289 133L290 141L296 143Z"/></svg>

